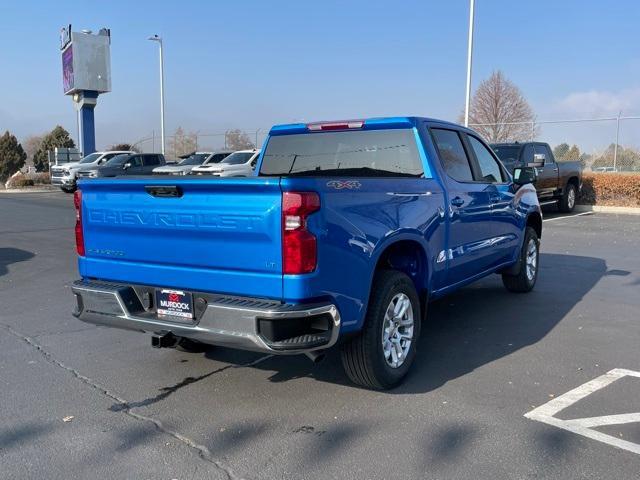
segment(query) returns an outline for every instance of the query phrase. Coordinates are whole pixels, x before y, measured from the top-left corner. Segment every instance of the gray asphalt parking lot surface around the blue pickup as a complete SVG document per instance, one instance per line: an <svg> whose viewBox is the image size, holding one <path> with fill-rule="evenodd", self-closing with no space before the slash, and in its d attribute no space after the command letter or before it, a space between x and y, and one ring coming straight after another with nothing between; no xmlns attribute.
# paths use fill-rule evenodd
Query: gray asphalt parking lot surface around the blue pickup
<svg viewBox="0 0 640 480"><path fill-rule="evenodd" d="M640 216L545 218L534 292L493 276L431 304L380 393L335 353L187 354L77 321L71 196L0 194L0 476L638 478L640 377L588 382L640 371Z"/></svg>

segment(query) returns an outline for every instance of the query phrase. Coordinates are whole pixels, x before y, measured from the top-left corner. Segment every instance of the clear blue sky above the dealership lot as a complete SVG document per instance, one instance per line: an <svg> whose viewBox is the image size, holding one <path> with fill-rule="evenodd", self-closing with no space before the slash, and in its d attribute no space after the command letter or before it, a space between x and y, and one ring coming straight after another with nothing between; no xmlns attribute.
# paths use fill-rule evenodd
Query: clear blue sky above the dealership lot
<svg viewBox="0 0 640 480"><path fill-rule="evenodd" d="M476 0L473 85L501 69L539 119L640 115L640 2ZM60 27L111 28L113 91L97 144L159 129L157 47L165 39L167 131L252 130L297 120L416 114L454 120L464 101L468 1L0 0L0 130L59 123ZM610 128L610 127L607 127ZM628 122L622 141L640 143ZM587 128L553 143L610 143ZM570 133L569 133L570 132Z"/></svg>

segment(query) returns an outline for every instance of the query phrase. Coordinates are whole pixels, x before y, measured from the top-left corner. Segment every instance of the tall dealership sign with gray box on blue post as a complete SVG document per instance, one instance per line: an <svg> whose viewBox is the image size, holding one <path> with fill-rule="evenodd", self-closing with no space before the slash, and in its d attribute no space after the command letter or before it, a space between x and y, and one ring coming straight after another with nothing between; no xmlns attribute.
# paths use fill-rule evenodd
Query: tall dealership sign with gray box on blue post
<svg viewBox="0 0 640 480"><path fill-rule="evenodd" d="M78 110L78 146L84 155L96 151L93 110L98 95L111 91L110 46L111 32L106 28L92 35L90 30L72 32L68 25L60 32L62 85Z"/></svg>

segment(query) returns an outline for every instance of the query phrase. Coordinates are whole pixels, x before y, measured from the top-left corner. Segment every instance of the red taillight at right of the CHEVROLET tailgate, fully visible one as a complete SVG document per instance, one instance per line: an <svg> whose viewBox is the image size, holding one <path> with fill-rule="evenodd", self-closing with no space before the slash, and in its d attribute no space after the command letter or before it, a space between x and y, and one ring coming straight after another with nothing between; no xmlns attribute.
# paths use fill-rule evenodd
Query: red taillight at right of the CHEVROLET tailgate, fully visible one
<svg viewBox="0 0 640 480"><path fill-rule="evenodd" d="M316 237L307 230L307 217L320 209L315 192L282 193L282 273L310 273L316 269Z"/></svg>

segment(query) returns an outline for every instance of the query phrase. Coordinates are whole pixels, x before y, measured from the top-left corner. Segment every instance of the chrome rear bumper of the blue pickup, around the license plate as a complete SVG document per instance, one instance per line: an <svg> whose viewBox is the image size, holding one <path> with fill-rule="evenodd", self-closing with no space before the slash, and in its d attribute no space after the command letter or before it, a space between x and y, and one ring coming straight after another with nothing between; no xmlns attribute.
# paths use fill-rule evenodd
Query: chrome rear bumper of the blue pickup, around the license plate
<svg viewBox="0 0 640 480"><path fill-rule="evenodd" d="M242 350L280 355L307 353L333 346L340 332L340 314L331 303L290 305L193 293L196 318L182 322L155 313L153 300L148 301L153 287L78 280L71 290L77 303L73 315L83 322L153 334L172 333ZM289 338L273 336L273 332L296 330L302 324L313 325L314 330Z"/></svg>

